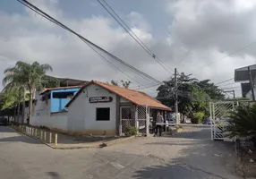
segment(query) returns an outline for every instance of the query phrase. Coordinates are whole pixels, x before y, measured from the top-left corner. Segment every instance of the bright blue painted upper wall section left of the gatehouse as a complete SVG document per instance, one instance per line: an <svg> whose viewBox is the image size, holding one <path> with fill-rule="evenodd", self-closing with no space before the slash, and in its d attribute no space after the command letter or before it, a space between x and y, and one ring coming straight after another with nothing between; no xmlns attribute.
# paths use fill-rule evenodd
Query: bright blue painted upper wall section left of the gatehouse
<svg viewBox="0 0 256 179"><path fill-rule="evenodd" d="M64 110L66 104L71 100L70 98L53 98L53 93L57 92L73 92L73 95L79 90L79 88L51 90L51 112L60 112Z"/></svg>

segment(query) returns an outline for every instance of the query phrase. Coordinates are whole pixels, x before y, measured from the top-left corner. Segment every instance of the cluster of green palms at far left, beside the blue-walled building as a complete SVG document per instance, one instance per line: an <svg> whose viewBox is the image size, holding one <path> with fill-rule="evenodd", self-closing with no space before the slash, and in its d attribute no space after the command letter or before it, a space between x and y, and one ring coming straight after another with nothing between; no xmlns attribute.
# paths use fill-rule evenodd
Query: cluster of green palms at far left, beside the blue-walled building
<svg viewBox="0 0 256 179"><path fill-rule="evenodd" d="M35 90L41 90L43 85L47 86L48 82L54 82L55 86L59 83L54 78L46 75L52 71L49 64L28 64L25 62L17 62L14 67L4 71L4 105L2 109L13 107L21 103L21 94L23 95L23 107L26 99L26 93L29 93L30 100L30 119L32 111L32 100ZM20 107L20 105L18 105ZM18 109L18 111L20 111Z"/></svg>

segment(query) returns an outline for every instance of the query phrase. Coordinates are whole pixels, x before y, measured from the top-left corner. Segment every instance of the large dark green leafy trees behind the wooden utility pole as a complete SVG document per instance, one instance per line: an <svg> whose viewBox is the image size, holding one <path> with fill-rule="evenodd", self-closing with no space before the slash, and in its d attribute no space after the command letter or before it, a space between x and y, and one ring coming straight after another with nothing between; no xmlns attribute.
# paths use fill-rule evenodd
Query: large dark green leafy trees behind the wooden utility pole
<svg viewBox="0 0 256 179"><path fill-rule="evenodd" d="M178 107L179 112L194 119L195 123L201 123L199 114L209 115L209 100L225 99L214 83L209 80L198 81L197 79L177 78L178 83ZM175 79L163 81L158 87L157 99L168 107L175 106ZM199 114L198 114L199 113ZM203 118L202 117L202 118Z"/></svg>

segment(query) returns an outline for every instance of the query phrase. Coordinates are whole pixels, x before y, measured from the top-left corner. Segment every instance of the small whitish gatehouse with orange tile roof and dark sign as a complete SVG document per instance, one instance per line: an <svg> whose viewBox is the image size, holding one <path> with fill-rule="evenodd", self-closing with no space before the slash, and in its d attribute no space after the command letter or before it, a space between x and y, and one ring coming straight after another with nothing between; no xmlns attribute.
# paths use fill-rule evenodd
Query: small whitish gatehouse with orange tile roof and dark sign
<svg viewBox="0 0 256 179"><path fill-rule="evenodd" d="M66 107L69 132L106 135L123 135L128 126L148 134L149 118L171 110L145 93L99 81L83 85Z"/></svg>

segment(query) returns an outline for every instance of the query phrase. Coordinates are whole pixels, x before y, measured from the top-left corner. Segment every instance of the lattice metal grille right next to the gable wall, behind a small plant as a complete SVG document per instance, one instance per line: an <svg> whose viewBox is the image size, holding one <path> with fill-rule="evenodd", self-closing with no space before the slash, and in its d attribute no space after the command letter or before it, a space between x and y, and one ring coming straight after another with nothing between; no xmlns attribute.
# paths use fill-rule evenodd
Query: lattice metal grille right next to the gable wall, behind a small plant
<svg viewBox="0 0 256 179"><path fill-rule="evenodd" d="M120 107L120 132L124 135L127 132L127 127L132 125L132 107Z"/></svg>

